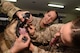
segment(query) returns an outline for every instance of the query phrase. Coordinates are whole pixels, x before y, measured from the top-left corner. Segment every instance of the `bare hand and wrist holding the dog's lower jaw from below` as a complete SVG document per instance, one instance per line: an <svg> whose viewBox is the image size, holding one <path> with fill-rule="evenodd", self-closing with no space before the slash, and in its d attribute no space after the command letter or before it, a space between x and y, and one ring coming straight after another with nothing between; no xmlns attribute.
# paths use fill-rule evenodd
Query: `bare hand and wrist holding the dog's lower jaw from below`
<svg viewBox="0 0 80 53"><path fill-rule="evenodd" d="M23 40L22 40L23 37L27 38L26 42L23 42ZM15 41L13 47L10 49L10 51L12 53L19 52L20 50L28 47L29 44L30 44L30 37L29 37L29 35L27 33L26 34L22 34L22 35L20 35L19 38L16 39L16 41Z"/></svg>

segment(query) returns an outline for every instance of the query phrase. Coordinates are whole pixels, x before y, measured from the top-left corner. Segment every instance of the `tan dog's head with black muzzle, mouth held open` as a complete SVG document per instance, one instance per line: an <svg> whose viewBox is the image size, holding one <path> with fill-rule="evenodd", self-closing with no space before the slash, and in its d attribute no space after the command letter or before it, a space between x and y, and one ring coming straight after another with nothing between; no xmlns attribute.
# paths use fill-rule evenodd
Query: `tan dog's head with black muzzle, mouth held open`
<svg viewBox="0 0 80 53"><path fill-rule="evenodd" d="M19 18L15 18L11 21L9 25L7 25L5 29L5 37L7 39L15 40L16 36L19 37L20 33L25 31L19 31L19 27L26 28L27 24L32 21L32 16L30 13L25 13L23 15L24 22L22 22ZM25 27L24 27L25 26ZM20 32L20 33L19 33Z"/></svg>

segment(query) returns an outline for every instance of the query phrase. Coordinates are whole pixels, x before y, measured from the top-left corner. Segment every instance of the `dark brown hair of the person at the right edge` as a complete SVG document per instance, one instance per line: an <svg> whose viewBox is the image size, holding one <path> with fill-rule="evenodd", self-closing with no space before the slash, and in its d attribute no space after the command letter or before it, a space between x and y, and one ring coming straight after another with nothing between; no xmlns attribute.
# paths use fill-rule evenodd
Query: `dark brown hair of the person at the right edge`
<svg viewBox="0 0 80 53"><path fill-rule="evenodd" d="M72 44L73 47L80 48L80 18L72 21Z"/></svg>

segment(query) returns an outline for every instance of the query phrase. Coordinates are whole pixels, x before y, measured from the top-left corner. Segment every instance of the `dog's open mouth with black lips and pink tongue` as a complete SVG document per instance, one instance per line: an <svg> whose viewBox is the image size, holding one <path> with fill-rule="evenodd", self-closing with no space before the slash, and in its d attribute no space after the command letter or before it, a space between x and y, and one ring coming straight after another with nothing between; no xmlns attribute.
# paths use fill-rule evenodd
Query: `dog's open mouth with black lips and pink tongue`
<svg viewBox="0 0 80 53"><path fill-rule="evenodd" d="M24 22L19 21L16 27L16 36L19 37L21 34L25 34L28 32L28 26L29 24L26 23L26 20Z"/></svg>

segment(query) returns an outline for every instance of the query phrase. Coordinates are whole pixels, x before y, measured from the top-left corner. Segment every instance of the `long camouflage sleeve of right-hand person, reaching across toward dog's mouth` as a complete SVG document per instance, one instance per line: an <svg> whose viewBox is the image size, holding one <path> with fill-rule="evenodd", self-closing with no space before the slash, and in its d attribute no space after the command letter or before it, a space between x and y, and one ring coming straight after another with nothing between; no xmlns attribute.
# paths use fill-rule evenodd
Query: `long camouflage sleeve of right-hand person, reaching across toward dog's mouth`
<svg viewBox="0 0 80 53"><path fill-rule="evenodd" d="M46 28L45 31L35 32L33 42L48 43L54 37L54 34L61 28L63 24L53 24Z"/></svg>

